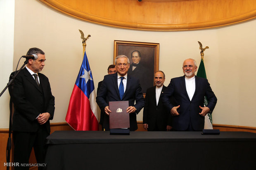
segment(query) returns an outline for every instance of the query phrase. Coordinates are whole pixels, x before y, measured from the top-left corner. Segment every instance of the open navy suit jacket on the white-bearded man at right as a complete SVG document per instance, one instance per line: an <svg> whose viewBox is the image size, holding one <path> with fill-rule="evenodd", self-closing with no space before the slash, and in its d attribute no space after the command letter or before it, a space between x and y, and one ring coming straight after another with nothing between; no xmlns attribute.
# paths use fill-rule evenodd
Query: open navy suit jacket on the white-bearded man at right
<svg viewBox="0 0 256 170"><path fill-rule="evenodd" d="M185 131L191 119L193 129L201 131L204 129L204 117L199 115L201 113L199 106L204 107L204 96L209 100L207 107L211 111L217 103L217 98L207 79L195 76L195 84L196 88L191 101L186 90L185 76L172 78L167 89L162 93L162 101L168 110L180 105L177 109L180 115L173 116L173 129L175 130ZM174 99L173 103L169 101L171 96Z"/></svg>

